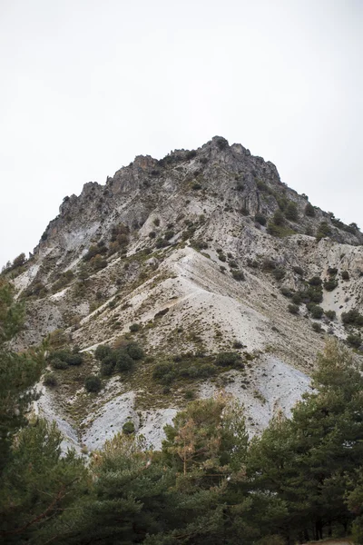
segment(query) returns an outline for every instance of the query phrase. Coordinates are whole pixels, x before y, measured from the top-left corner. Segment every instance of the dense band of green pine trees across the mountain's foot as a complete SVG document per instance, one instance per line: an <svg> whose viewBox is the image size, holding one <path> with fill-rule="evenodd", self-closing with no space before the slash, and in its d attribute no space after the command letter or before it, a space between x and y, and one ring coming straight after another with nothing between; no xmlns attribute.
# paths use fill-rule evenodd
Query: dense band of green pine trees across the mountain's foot
<svg viewBox="0 0 363 545"><path fill-rule="evenodd" d="M22 308L0 286L0 540L11 544L285 545L353 531L363 543L363 378L329 342L290 419L249 441L226 395L192 401L161 451L116 435L85 463L54 424L27 421L42 351L7 342ZM25 393L26 392L26 393Z"/></svg>

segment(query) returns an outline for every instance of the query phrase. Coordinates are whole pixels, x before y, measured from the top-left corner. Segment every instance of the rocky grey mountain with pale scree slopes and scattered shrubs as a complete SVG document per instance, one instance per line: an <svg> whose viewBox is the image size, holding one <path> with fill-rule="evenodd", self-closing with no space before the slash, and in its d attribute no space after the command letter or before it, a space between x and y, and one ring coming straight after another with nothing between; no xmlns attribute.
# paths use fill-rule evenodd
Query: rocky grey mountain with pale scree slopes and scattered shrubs
<svg viewBox="0 0 363 545"><path fill-rule="evenodd" d="M26 301L15 348L51 334L54 350L83 353L64 369L50 360L57 385L40 386L36 411L83 451L127 421L158 446L178 408L223 388L260 431L309 388L325 336L345 339L359 322L362 244L355 223L221 136L136 157L64 197L29 260L3 272ZM94 349L130 342L145 352L132 371L103 372L102 390L85 391L100 372Z"/></svg>

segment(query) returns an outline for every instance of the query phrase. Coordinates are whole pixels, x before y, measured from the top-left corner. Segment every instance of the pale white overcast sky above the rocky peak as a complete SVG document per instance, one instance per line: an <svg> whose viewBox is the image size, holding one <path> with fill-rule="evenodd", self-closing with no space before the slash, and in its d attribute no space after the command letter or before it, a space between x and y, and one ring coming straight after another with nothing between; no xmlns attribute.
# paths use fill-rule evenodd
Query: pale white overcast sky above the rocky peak
<svg viewBox="0 0 363 545"><path fill-rule="evenodd" d="M0 0L0 265L67 194L215 134L363 228L361 0Z"/></svg>

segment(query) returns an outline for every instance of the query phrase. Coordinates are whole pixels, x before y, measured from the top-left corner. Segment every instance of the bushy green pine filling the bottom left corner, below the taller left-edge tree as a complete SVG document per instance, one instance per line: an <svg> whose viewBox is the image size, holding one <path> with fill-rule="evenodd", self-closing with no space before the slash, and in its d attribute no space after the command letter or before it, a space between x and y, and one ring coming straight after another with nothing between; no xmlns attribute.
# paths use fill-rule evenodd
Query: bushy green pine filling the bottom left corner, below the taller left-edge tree
<svg viewBox="0 0 363 545"><path fill-rule="evenodd" d="M0 540L34 543L49 540L51 527L84 488L83 461L68 451L62 456L62 434L44 420L20 431L0 485Z"/></svg>

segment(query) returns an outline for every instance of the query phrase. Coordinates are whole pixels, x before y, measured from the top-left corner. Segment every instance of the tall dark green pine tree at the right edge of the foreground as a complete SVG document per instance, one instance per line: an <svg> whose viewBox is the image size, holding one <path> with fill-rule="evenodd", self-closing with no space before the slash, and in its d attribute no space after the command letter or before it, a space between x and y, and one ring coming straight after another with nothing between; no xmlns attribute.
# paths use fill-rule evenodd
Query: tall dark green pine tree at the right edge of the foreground
<svg viewBox="0 0 363 545"><path fill-rule="evenodd" d="M347 479L363 454L363 377L348 350L329 342L312 376L313 391L272 421L252 442L249 474L289 510L281 524L287 539L321 539L333 525L347 530Z"/></svg>

